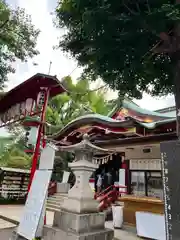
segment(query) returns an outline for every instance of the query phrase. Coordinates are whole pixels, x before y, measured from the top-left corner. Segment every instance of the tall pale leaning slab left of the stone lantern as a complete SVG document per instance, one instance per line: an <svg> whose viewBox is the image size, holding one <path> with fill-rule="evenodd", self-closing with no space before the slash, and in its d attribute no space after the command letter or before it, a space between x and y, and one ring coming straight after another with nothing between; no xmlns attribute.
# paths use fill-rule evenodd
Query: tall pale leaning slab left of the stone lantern
<svg viewBox="0 0 180 240"><path fill-rule="evenodd" d="M10 240L32 240L42 237L48 186L54 165L56 147L47 144L40 156L39 169L33 177L31 189L17 231Z"/></svg>

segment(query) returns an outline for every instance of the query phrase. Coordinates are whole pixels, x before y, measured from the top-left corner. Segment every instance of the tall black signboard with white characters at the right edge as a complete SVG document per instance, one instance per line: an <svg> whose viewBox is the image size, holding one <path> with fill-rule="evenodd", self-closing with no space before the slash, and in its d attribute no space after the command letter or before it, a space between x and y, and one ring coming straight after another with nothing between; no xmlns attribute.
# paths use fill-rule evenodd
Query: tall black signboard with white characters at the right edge
<svg viewBox="0 0 180 240"><path fill-rule="evenodd" d="M166 240L180 239L180 141L163 142L161 163Z"/></svg>

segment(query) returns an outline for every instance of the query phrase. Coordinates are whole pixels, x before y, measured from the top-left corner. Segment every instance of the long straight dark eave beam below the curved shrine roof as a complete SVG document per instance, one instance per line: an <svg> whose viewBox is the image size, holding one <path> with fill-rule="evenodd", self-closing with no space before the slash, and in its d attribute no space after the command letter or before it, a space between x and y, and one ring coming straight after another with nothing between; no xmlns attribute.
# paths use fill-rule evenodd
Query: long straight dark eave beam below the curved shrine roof
<svg viewBox="0 0 180 240"><path fill-rule="evenodd" d="M93 144L99 146L99 147L105 147L105 146L130 146L130 145L144 145L149 143L158 143L162 141L170 141L170 140L176 140L177 134L175 132L173 133L164 133L164 134L158 134L158 135L151 135L151 136L143 136L143 137L129 137L129 138L119 138L119 139L111 139L111 140L95 140Z"/></svg>

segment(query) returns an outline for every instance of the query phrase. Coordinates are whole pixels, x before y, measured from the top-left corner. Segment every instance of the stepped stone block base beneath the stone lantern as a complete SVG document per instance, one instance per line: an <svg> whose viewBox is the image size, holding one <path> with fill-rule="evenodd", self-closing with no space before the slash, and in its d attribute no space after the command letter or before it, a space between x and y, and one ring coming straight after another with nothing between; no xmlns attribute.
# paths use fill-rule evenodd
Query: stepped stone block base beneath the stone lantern
<svg viewBox="0 0 180 240"><path fill-rule="evenodd" d="M43 240L112 240L114 231L104 224L104 213L55 212L53 226L44 227Z"/></svg>

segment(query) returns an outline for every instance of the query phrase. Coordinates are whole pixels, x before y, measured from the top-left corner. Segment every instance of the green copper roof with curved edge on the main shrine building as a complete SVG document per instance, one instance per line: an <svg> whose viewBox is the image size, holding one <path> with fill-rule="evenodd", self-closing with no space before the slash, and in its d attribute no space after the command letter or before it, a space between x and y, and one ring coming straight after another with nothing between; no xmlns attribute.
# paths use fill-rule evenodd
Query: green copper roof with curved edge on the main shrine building
<svg viewBox="0 0 180 240"><path fill-rule="evenodd" d="M143 122L143 120L137 120L138 118L136 118L135 116L133 117L133 113L132 116L129 116L128 120L113 119L113 114L115 114L117 111L120 111L121 108L132 110L132 112L135 112L135 114L137 113L137 116L151 116L152 121L154 121L147 123ZM103 125L104 128L129 128L140 125L147 129L155 129L157 126L174 122L175 120L176 118L172 117L171 115L140 108L137 104L125 99L122 101L121 107L116 106L108 116L103 116L100 114L87 114L84 116L80 116L69 122L65 127L61 128L55 134L51 135L50 138L53 138L56 141L60 141L60 139L63 139L75 129L79 129L88 125L95 126L100 124Z"/></svg>

